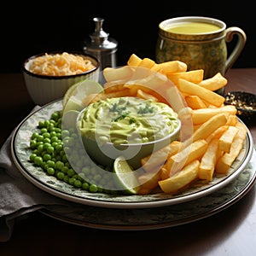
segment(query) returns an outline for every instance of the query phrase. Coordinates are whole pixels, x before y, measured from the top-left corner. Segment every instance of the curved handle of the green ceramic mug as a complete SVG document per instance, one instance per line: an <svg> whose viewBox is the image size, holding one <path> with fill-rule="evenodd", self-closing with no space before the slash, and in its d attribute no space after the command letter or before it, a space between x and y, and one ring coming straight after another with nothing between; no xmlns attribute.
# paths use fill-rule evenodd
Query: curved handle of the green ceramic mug
<svg viewBox="0 0 256 256"><path fill-rule="evenodd" d="M247 35L243 30L241 30L241 28L237 26L230 26L229 28L226 29L226 35L225 35L226 42L230 43L233 40L233 36L235 34L238 36L238 41L236 43L235 48L233 49L230 56L228 57L227 61L225 62L224 73L227 73L230 67L233 66L234 62L236 61L238 56L241 54L241 50L243 49L247 41Z"/></svg>

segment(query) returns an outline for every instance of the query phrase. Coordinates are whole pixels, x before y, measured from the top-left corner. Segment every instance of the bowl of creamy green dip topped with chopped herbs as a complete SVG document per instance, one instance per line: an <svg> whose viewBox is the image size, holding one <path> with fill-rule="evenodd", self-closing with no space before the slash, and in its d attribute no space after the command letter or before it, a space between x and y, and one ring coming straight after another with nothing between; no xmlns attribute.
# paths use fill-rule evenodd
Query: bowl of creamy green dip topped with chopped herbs
<svg viewBox="0 0 256 256"><path fill-rule="evenodd" d="M125 96L91 103L77 128L91 160L111 167L123 155L137 169L143 157L178 139L181 122L165 103Z"/></svg>

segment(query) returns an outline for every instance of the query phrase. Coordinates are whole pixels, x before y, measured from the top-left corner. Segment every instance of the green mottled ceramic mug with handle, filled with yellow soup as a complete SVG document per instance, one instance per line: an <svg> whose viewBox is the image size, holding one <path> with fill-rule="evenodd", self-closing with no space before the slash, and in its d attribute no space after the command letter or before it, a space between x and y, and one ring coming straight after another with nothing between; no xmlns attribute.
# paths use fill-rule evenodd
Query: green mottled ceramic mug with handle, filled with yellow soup
<svg viewBox="0 0 256 256"><path fill-rule="evenodd" d="M228 56L227 43L238 40ZM204 69L204 79L232 67L246 43L245 32L237 26L226 28L222 20L184 16L164 20L159 25L155 60L183 61L188 70Z"/></svg>

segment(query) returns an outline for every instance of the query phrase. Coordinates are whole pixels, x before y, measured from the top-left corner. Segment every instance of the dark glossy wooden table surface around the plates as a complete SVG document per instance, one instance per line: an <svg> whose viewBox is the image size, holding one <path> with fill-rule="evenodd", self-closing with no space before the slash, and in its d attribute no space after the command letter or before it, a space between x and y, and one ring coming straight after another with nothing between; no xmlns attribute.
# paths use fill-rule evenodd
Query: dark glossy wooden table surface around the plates
<svg viewBox="0 0 256 256"><path fill-rule="evenodd" d="M256 68L230 69L226 78L226 92L256 93ZM0 74L0 84L2 145L35 105L21 73ZM255 147L255 120L246 125ZM256 255L255 200L254 184L241 200L221 212L159 230L97 230L32 212L15 223L9 241L0 242L0 255Z"/></svg>

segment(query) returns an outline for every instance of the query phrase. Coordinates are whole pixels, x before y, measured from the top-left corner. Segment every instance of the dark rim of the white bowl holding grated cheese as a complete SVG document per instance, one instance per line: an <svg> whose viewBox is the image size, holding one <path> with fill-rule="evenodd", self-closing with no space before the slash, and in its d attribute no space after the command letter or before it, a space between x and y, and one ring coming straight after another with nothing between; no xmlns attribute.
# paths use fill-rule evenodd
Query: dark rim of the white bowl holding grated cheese
<svg viewBox="0 0 256 256"><path fill-rule="evenodd" d="M49 76L49 75L42 75L42 74L37 74L37 73L32 73L30 72L29 70L26 69L26 63L28 61L31 61L39 56L43 56L45 55L46 53L48 55L55 55L55 54L62 54L64 52L67 52L68 54L73 54L73 55L83 55L85 57L88 57L90 59L92 59L93 61L96 62L96 67L88 70L88 71L85 71L83 73L77 73L77 74L72 74L72 75L65 75L65 76ZM99 70L101 66L101 63L100 61L93 55L89 55L89 54L84 54L84 52L82 51L61 51L61 50L55 50L55 51L45 51L45 52L41 52L39 54L36 54L36 55L32 55L28 58L25 59L25 61L22 62L22 71L32 77L35 77L35 78L39 78L39 79L55 79L55 80L60 80L60 79L74 79L74 78L77 78L77 77L81 77L81 76L84 76L84 75L87 75L87 74L90 74L90 73L93 73L95 72L96 70Z"/></svg>

